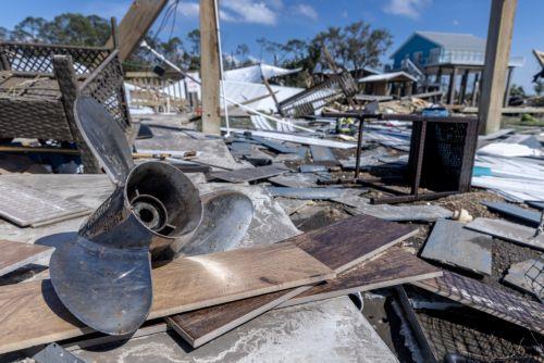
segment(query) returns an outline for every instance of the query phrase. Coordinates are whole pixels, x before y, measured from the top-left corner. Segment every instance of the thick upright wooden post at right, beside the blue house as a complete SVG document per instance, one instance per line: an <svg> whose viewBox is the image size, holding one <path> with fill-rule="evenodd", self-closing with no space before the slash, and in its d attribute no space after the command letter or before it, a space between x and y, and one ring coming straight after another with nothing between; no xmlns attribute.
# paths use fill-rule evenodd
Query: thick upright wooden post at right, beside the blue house
<svg viewBox="0 0 544 363"><path fill-rule="evenodd" d="M492 0L479 117L482 134L500 129L506 71L518 0Z"/></svg>

